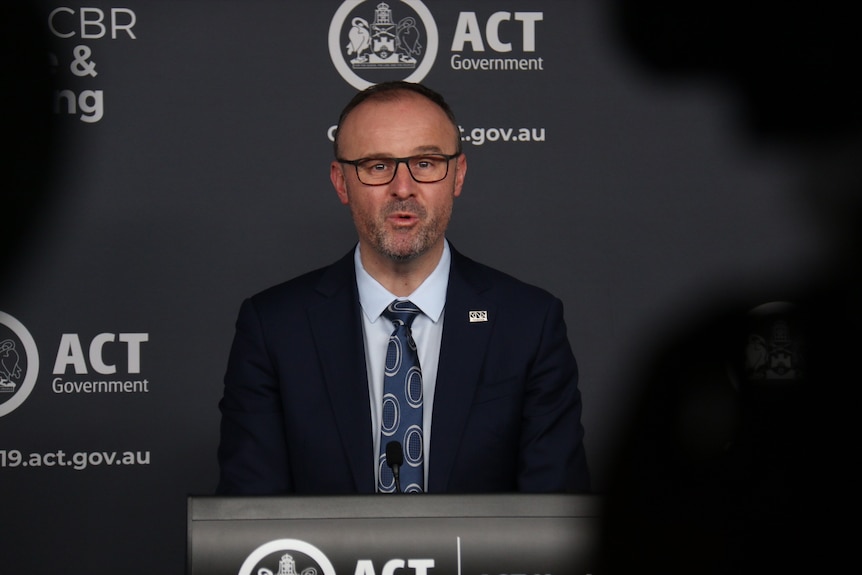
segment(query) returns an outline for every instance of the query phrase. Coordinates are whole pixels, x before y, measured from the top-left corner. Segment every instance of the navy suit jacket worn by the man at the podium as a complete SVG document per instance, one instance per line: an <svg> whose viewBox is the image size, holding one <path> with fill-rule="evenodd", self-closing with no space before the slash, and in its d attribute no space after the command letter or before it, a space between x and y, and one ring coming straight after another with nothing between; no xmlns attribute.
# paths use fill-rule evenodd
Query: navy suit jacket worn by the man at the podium
<svg viewBox="0 0 862 575"><path fill-rule="evenodd" d="M588 491L560 301L452 249L444 313L427 491ZM218 493L375 491L360 314L353 251L243 302Z"/></svg>

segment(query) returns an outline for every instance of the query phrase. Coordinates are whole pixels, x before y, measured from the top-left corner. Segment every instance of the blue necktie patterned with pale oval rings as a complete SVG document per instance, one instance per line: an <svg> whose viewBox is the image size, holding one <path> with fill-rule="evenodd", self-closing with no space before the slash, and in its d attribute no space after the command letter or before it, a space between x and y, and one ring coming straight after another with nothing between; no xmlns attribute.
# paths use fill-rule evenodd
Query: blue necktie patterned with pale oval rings
<svg viewBox="0 0 862 575"><path fill-rule="evenodd" d="M399 484L404 493L425 490L423 470L425 450L422 438L422 370L410 325L421 310L409 301L395 300L383 312L383 317L395 324L386 349L383 375L383 412L378 459L378 491L393 493L396 481L386 462L386 445L397 441L404 450L404 465L400 467Z"/></svg>

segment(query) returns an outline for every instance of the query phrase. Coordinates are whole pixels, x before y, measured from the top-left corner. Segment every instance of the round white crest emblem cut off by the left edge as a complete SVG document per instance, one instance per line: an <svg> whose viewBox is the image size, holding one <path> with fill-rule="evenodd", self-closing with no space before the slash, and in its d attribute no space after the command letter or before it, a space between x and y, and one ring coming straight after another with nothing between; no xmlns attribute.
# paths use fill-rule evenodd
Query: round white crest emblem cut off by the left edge
<svg viewBox="0 0 862 575"><path fill-rule="evenodd" d="M0 311L0 417L27 400L38 375L36 342L24 324Z"/></svg>

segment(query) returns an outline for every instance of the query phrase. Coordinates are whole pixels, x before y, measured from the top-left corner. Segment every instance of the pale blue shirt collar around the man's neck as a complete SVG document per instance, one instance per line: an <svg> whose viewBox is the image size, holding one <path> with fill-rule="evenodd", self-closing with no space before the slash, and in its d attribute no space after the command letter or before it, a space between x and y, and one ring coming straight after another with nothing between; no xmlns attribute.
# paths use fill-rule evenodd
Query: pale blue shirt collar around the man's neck
<svg viewBox="0 0 862 575"><path fill-rule="evenodd" d="M359 244L353 252L353 262L356 268L356 286L359 288L359 304L362 312L371 323L377 321L383 310L392 300L399 299L385 287L380 285L376 279L371 277L362 267L362 259L359 256ZM449 286L449 267L452 263L452 254L449 250L449 242L443 242L443 254L437 267L431 272L425 281L416 288L407 298L422 310L431 321L437 323L443 315L446 305L446 289Z"/></svg>

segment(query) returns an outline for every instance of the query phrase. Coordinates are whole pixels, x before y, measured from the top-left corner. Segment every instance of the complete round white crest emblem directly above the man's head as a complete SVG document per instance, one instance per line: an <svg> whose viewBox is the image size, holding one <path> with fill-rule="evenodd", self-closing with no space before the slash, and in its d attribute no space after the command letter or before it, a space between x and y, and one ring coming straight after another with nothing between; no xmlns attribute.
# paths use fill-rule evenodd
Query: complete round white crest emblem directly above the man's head
<svg viewBox="0 0 862 575"><path fill-rule="evenodd" d="M419 0L347 0L329 25L329 56L356 88L421 82L437 57L437 24Z"/></svg>

